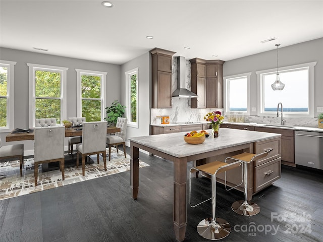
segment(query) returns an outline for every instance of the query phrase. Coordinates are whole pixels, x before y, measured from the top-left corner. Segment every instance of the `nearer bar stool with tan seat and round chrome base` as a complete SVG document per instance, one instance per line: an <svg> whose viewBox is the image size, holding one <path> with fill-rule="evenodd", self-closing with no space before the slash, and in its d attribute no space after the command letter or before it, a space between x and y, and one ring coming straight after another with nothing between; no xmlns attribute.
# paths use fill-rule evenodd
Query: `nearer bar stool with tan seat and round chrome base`
<svg viewBox="0 0 323 242"><path fill-rule="evenodd" d="M216 218L216 195L217 195L217 177L218 173L239 167L241 161L235 161L230 164L221 161L213 161L207 164L192 167L189 177L189 203L191 207L196 207L210 199L212 199L212 217L205 218L197 225L197 232L206 239L217 240L229 235L231 232L230 224L222 219ZM202 171L211 176L212 197L196 205L191 205L191 176L192 173Z"/></svg>

